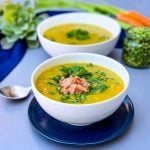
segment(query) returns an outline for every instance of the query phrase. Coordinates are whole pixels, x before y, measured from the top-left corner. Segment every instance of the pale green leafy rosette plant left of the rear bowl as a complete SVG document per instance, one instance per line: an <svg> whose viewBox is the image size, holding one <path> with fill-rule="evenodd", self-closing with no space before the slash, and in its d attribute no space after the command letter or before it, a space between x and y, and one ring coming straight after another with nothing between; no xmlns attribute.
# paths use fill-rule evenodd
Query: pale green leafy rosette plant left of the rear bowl
<svg viewBox="0 0 150 150"><path fill-rule="evenodd" d="M0 16L0 30L5 37L1 45L5 49L11 48L19 39L25 39L29 48L39 46L36 27L45 15L36 16L35 8L30 1L21 3L4 3Z"/></svg>

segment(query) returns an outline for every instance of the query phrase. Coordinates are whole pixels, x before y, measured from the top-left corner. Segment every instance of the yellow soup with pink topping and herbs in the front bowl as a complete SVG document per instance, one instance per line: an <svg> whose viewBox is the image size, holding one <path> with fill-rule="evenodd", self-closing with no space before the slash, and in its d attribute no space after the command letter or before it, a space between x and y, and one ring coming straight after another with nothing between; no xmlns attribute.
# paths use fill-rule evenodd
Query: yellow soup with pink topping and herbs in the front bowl
<svg viewBox="0 0 150 150"><path fill-rule="evenodd" d="M111 98L124 89L113 71L88 63L68 63L48 68L36 82L43 95L63 103L90 104Z"/></svg>

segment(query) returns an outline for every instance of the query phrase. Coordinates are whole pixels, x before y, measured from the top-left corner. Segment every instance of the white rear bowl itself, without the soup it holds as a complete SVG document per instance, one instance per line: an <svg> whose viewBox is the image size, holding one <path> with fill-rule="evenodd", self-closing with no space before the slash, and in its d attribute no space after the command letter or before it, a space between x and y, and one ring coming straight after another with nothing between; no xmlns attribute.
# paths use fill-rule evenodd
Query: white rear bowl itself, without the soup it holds
<svg viewBox="0 0 150 150"><path fill-rule="evenodd" d="M96 43L96 44L87 44L87 45L71 45L71 44L62 44L57 43L51 40L48 40L43 36L43 33L51 27L67 24L67 23L84 23L100 26L107 29L112 33L112 38L107 41ZM37 27L37 33L39 41L45 51L51 56L57 56L67 53L97 53L102 55L109 54L115 47L121 28L117 21L114 19L95 13L65 13L50 17L42 21Z"/></svg>

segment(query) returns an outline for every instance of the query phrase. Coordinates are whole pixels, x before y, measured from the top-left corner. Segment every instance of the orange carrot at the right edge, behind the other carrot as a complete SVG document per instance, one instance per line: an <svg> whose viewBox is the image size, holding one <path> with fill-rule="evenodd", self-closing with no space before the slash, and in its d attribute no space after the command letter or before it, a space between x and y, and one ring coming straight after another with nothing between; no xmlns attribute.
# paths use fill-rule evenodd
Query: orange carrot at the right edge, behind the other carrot
<svg viewBox="0 0 150 150"><path fill-rule="evenodd" d="M128 11L127 15L131 18L134 18L135 20L139 22L142 22L145 26L150 27L150 19L143 16L139 12L131 10L131 11Z"/></svg>

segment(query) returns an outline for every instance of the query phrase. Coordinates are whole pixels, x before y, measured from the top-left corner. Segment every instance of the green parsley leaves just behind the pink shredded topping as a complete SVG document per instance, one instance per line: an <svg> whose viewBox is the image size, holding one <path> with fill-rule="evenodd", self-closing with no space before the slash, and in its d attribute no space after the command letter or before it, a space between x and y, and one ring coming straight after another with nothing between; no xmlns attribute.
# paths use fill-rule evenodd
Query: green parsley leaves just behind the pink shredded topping
<svg viewBox="0 0 150 150"><path fill-rule="evenodd" d="M72 66L72 67L64 67L62 66L61 71L64 72L65 76L78 76L81 78L89 78L92 76L92 73L87 71L84 67L82 66Z"/></svg>

